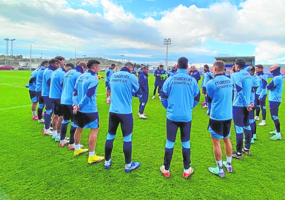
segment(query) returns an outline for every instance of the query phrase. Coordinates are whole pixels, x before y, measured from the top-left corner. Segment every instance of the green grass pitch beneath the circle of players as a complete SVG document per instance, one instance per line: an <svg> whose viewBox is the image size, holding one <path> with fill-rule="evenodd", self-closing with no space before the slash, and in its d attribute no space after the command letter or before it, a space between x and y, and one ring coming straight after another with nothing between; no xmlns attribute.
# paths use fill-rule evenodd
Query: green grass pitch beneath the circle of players
<svg viewBox="0 0 285 200"><path fill-rule="evenodd" d="M31 120L28 89L24 87L29 75L29 71L0 72L0 199L284 199L285 145L283 140L269 140L271 135L268 132L274 130L269 109L266 126L258 126L258 141L250 149L252 156L233 160L233 173L226 173L226 178L221 179L208 172L209 166L215 166L207 131L209 118L201 104L196 106L191 131L191 166L195 173L187 180L182 178L178 133L171 177L166 179L159 169L163 164L166 142L166 110L159 98L151 99L153 74L149 76L147 120L138 118L139 100L133 99L132 160L140 161L141 166L131 173L123 170L120 130L114 141L113 162L109 170L104 169L103 162L89 165L88 153L74 157L72 151L59 148L50 136L43 135L43 124ZM105 77L104 72L102 75ZM105 92L105 82L100 82L100 131L96 153L102 156L109 117ZM281 103L281 133L285 128L284 107L285 104ZM85 147L88 147L88 135L89 130L84 130L81 144ZM235 150L233 127L231 141Z"/></svg>

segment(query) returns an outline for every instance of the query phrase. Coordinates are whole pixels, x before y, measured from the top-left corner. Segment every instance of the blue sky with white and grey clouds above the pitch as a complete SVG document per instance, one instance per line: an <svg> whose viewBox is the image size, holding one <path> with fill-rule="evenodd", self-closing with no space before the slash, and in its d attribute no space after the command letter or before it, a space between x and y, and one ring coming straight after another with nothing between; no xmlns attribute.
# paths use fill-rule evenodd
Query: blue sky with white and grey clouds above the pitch
<svg viewBox="0 0 285 200"><path fill-rule="evenodd" d="M285 64L283 0L0 0L0 54L168 65L256 56ZM165 45L164 38L171 44ZM11 41L8 45L11 54ZM123 56L122 56L123 55Z"/></svg>

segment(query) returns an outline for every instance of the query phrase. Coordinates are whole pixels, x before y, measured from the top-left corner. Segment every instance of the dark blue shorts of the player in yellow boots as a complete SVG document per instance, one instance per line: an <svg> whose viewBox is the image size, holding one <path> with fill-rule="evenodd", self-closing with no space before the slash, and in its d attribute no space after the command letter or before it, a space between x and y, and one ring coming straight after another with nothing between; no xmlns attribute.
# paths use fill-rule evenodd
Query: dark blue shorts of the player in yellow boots
<svg viewBox="0 0 285 200"><path fill-rule="evenodd" d="M99 115L98 112L80 112L74 116L74 127L79 128L99 128Z"/></svg>

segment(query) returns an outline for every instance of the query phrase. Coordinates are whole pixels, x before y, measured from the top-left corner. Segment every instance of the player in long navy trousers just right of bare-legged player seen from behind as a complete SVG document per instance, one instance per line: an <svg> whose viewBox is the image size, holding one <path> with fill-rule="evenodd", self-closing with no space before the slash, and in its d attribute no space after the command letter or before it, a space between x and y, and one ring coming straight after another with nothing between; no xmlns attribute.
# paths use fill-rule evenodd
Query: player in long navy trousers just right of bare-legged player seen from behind
<svg viewBox="0 0 285 200"><path fill-rule="evenodd" d="M235 95L233 102L233 120L236 130L236 151L233 158L243 159L242 153L250 156L251 129L249 126L249 111L254 107L254 91L252 90L252 78L244 69L245 60L238 58L235 61L236 73L234 76ZM245 145L243 146L243 132Z"/></svg>

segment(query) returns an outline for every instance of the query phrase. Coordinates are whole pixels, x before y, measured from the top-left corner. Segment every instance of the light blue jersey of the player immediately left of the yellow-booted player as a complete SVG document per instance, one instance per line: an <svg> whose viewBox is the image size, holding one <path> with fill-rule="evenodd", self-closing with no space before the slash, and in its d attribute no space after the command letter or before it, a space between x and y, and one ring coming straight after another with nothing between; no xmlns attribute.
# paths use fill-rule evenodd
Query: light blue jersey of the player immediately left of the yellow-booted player
<svg viewBox="0 0 285 200"><path fill-rule="evenodd" d="M80 70L81 69L81 70ZM65 105L72 105L72 93L77 78L83 73L81 66L76 66L69 70L64 77L64 87L62 88L60 103Z"/></svg>

